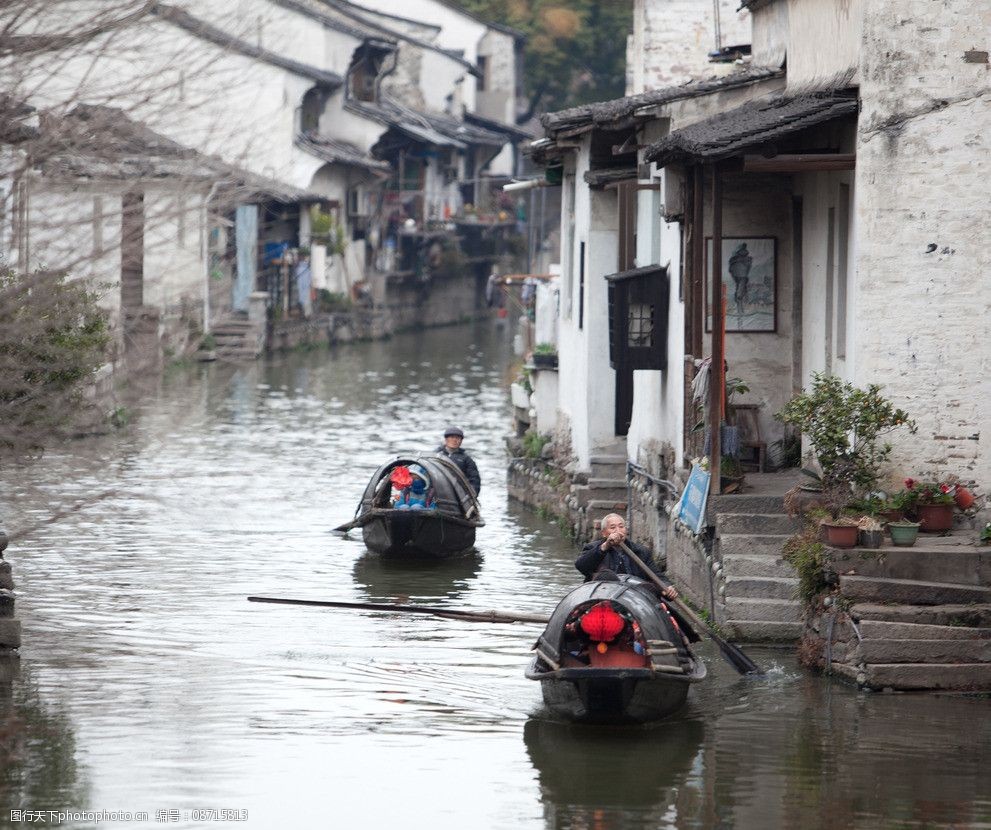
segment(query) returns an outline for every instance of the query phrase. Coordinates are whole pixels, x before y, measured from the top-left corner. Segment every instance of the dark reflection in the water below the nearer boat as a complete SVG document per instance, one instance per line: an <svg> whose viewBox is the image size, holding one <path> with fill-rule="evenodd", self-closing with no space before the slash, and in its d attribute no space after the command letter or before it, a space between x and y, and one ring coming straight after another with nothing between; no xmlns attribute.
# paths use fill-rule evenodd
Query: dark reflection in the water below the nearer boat
<svg viewBox="0 0 991 830"><path fill-rule="evenodd" d="M603 729L531 718L523 729L548 830L657 826L699 760L705 726L671 720Z"/></svg>

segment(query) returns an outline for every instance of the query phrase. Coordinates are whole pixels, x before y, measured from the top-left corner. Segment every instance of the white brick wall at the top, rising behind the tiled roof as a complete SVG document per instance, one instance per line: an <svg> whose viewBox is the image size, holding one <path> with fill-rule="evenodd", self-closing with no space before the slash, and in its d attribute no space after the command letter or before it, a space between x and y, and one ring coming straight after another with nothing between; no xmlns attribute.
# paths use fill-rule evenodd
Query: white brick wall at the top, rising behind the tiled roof
<svg viewBox="0 0 991 830"><path fill-rule="evenodd" d="M737 0L719 0L720 45L750 43L750 13ZM675 86L721 71L709 63L716 48L711 0L635 0L627 94Z"/></svg>

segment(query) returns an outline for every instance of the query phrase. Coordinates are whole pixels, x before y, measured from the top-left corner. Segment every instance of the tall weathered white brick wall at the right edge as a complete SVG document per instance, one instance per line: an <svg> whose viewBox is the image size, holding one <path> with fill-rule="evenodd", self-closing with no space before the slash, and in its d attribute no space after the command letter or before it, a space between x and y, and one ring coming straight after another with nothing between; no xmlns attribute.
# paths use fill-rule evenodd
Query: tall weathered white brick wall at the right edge
<svg viewBox="0 0 991 830"><path fill-rule="evenodd" d="M906 8L906 6L908 8ZM865 10L857 148L856 378L918 421L905 473L991 482L991 72L968 0ZM970 62L976 61L976 62Z"/></svg>

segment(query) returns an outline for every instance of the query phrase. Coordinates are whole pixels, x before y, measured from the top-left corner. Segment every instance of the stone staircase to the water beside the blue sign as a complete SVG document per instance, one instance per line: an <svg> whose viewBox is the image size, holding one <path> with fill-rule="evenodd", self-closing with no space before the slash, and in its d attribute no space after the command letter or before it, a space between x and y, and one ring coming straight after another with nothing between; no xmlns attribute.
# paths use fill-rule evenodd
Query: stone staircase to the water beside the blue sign
<svg viewBox="0 0 991 830"><path fill-rule="evenodd" d="M731 639L794 642L802 634L798 577L782 558L800 522L780 496L713 496L710 566L716 621Z"/></svg>

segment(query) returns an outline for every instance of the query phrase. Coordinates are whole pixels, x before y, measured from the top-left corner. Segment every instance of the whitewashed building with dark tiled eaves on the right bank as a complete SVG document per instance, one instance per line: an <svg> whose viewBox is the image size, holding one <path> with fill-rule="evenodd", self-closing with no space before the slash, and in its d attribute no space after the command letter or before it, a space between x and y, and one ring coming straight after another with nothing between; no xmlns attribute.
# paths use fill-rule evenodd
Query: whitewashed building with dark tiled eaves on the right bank
<svg viewBox="0 0 991 830"><path fill-rule="evenodd" d="M646 0L638 9L653 6L655 16L640 15L638 26L652 20L661 31L672 5L685 12ZM743 413L751 469L773 470L786 439L775 413L825 372L881 384L917 421L915 435L889 436L893 480L991 482L981 204L991 76L988 53L969 34L987 30L991 12L963 0L913 7L911 19L895 2L743 5L751 54L731 72L721 66L708 80L550 114L532 152L564 181L558 346L568 382L558 385L556 444L579 482L569 507L583 513L589 494L577 490L595 480L604 455L632 463L626 496L649 524L640 533L674 556L688 592L729 630L788 639L799 629L794 574L780 564L759 578L727 577L720 557L729 548L720 546L780 552L786 537L773 534L790 520L718 521L718 510L780 512L787 485L774 508L724 497L737 501L718 502L716 548L680 555L658 509L668 486L656 480L677 491L693 457L708 450L719 459L696 429L707 415L711 423ZM701 20L713 5L697 7ZM632 42L644 37L641 28ZM652 61L662 54L646 51ZM651 72L664 76L656 65ZM724 340L710 299L723 288ZM750 390L723 414L718 382L701 402L692 389L699 363L716 355L718 366L720 353L727 376ZM714 476L713 496L720 486ZM626 496L615 492L612 503ZM595 516L585 513L587 532ZM772 535L748 535L757 527Z"/></svg>

